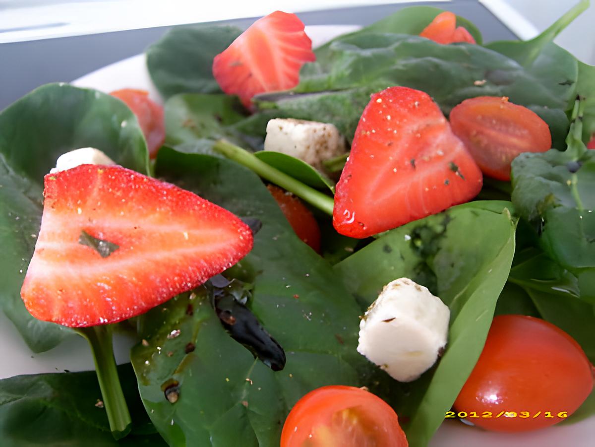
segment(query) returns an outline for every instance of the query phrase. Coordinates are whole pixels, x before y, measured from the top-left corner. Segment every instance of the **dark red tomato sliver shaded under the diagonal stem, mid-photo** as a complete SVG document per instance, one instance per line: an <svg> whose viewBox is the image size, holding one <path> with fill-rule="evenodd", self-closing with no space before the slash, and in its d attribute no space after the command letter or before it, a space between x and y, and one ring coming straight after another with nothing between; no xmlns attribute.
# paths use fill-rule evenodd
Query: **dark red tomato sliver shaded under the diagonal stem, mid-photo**
<svg viewBox="0 0 595 447"><path fill-rule="evenodd" d="M274 185L268 185L267 188L281 207L297 237L311 246L314 251L320 252L320 228L310 210L292 193Z"/></svg>

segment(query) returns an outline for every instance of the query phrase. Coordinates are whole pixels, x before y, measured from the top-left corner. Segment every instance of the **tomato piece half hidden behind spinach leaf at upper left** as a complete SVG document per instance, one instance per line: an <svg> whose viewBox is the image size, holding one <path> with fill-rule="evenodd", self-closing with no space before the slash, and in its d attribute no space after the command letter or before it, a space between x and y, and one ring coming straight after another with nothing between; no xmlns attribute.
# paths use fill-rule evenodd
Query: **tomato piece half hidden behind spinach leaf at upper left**
<svg viewBox="0 0 595 447"><path fill-rule="evenodd" d="M139 120L140 129L145 135L149 157L155 158L157 151L165 141L165 121L163 108L149 99L145 90L121 89L109 93L124 101Z"/></svg>

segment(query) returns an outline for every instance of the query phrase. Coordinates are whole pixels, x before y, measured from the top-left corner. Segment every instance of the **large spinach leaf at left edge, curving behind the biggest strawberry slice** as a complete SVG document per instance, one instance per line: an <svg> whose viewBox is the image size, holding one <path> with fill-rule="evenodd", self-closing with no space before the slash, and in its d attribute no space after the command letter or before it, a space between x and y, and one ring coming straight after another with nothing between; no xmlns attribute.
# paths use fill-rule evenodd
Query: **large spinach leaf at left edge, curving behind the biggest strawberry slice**
<svg viewBox="0 0 595 447"><path fill-rule="evenodd" d="M33 318L20 298L39 233L43 176L61 154L87 146L101 149L118 164L148 172L136 117L105 93L49 84L0 113L0 306L35 352L53 348L70 333Z"/></svg>

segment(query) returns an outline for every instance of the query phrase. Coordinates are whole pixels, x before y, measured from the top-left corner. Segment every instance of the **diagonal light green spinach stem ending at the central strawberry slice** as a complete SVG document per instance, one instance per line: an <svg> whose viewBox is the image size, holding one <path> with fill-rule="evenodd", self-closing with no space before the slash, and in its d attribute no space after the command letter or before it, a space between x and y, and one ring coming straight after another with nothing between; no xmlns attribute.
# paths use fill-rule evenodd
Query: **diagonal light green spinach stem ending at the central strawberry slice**
<svg viewBox="0 0 595 447"><path fill-rule="evenodd" d="M333 215L334 202L332 197L327 196L308 185L304 185L302 182L299 182L299 180L296 180L277 168L266 164L264 161L255 157L252 152L248 152L246 149L242 149L226 140L218 140L215 142L213 149L220 154L225 155L230 160L244 165L263 179L267 179L270 182L275 183L275 185L293 192L296 196L319 210L329 215Z"/></svg>

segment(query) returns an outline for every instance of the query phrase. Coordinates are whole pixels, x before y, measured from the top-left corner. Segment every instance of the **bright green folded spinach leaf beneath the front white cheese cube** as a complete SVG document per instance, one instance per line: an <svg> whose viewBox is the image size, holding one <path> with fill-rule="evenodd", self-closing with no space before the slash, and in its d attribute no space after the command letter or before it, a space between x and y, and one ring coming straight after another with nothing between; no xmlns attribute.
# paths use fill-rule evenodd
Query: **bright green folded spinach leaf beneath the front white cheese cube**
<svg viewBox="0 0 595 447"><path fill-rule="evenodd" d="M409 277L450 308L444 355L404 385L408 396L397 403L397 414L410 418L403 428L411 446L427 445L481 353L515 250L511 209L495 201L453 207L387 232L335 267L366 305L390 281Z"/></svg>

